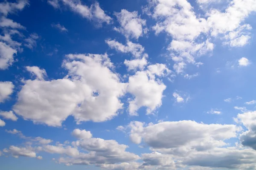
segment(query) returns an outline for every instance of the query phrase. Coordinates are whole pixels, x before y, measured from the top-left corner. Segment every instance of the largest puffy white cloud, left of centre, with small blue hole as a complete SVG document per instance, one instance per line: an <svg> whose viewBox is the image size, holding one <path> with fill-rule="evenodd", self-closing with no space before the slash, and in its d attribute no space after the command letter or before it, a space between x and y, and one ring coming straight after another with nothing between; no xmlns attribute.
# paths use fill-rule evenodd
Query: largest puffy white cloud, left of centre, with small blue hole
<svg viewBox="0 0 256 170"><path fill-rule="evenodd" d="M63 66L70 79L25 81L13 108L15 113L49 126L61 126L70 115L77 122L103 122L116 116L122 109L119 97L126 84L111 71L108 56L69 54L67 58Z"/></svg>

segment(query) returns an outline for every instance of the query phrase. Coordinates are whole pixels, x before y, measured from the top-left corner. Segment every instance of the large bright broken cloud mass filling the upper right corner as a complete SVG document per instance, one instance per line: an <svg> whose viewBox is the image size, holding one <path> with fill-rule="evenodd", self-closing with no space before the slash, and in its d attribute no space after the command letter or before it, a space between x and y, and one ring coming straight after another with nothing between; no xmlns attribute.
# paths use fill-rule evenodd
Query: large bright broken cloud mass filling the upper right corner
<svg viewBox="0 0 256 170"><path fill-rule="evenodd" d="M197 2L208 4L213 1ZM172 36L167 49L175 61L175 70L181 73L186 63L195 64L195 57L213 50L211 37L221 37L223 43L231 47L246 45L250 40L248 31L251 26L241 23L256 11L256 6L253 0L232 0L225 10L210 8L205 17L201 17L187 0L149 0L144 10L157 20L152 27L156 34L165 31Z"/></svg>

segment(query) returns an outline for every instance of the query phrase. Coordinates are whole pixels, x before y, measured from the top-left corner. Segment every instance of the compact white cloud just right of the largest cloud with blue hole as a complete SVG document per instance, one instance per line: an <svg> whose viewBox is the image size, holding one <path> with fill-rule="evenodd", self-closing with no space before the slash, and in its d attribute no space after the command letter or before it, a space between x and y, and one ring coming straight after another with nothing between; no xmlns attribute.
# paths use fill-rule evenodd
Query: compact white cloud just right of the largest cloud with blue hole
<svg viewBox="0 0 256 170"><path fill-rule="evenodd" d="M135 75L129 77L127 91L134 96L130 99L128 111L130 115L137 115L137 110L145 106L147 114L152 113L162 105L163 91L166 86L163 82L156 81L155 76L163 76L165 69L159 70L157 65L148 66L147 71L137 71Z"/></svg>

